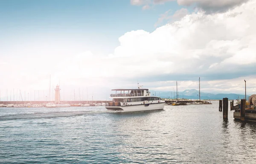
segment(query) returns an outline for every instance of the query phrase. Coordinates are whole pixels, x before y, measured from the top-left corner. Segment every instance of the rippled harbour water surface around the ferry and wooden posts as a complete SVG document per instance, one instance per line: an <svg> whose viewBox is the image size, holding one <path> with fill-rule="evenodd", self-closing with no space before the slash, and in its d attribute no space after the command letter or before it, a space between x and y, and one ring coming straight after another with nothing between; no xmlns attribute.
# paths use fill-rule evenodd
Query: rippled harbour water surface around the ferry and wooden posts
<svg viewBox="0 0 256 164"><path fill-rule="evenodd" d="M256 124L212 105L0 108L0 163L256 163Z"/></svg>

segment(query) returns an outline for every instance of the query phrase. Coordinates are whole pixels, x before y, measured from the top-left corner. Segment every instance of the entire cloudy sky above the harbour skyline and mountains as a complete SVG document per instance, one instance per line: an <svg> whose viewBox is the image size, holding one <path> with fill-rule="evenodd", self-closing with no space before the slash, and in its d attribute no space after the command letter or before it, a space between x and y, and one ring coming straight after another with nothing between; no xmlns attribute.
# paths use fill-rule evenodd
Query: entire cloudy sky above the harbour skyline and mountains
<svg viewBox="0 0 256 164"><path fill-rule="evenodd" d="M199 77L202 92L243 94L246 80L256 93L256 0L0 0L0 22L2 101L49 99L57 84L62 100L137 82L183 91Z"/></svg>

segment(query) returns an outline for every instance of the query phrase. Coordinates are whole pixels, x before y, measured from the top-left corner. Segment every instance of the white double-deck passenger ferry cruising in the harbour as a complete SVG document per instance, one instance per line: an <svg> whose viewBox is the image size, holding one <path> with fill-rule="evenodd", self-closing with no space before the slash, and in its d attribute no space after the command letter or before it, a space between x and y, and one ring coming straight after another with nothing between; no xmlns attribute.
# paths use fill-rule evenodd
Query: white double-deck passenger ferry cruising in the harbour
<svg viewBox="0 0 256 164"><path fill-rule="evenodd" d="M112 89L115 94L111 94L112 102L109 102L107 109L121 110L123 112L161 110L165 101L160 97L151 96L148 89Z"/></svg>

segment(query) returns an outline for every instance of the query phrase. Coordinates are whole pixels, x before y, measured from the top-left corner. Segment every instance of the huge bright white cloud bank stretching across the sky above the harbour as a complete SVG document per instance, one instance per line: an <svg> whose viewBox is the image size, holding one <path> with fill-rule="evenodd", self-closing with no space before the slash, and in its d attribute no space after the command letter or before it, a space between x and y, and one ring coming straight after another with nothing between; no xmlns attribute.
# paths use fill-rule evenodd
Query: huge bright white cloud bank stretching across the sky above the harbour
<svg viewBox="0 0 256 164"><path fill-rule="evenodd" d="M224 13L186 14L181 20L151 33L127 32L119 37L120 46L110 55L86 50L81 53L73 47L67 48L68 44L58 46L60 51L54 47L40 48L39 44L32 51L31 44L22 45L23 49L14 52L23 54L21 58L0 60L0 69L6 70L0 72L0 77L5 79L1 88L47 89L49 74L53 84L61 79L61 83L73 86L110 88L136 84L137 79L142 83L178 78L188 81L201 75L211 78L210 81L226 79L228 83L232 81L227 80L230 74L233 74L231 78L255 75L252 69L256 64L255 7L255 1L248 1ZM67 51L71 55L65 54ZM26 58L26 54L34 58ZM211 89L223 90L218 85L212 85Z"/></svg>

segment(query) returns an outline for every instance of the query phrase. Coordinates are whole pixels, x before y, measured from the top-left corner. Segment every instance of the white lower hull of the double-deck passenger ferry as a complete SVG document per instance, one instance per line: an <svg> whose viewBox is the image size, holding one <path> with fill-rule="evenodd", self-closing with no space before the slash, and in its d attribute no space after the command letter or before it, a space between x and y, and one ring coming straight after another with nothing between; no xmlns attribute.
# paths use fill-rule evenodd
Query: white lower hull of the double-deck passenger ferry
<svg viewBox="0 0 256 164"><path fill-rule="evenodd" d="M123 112L135 112L135 111L145 111L145 110L162 110L164 108L164 105L165 105L165 102L154 103L154 104L128 105L128 106L107 106L106 109L120 110Z"/></svg>

